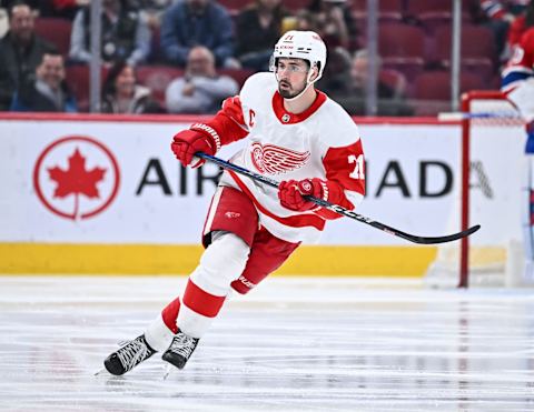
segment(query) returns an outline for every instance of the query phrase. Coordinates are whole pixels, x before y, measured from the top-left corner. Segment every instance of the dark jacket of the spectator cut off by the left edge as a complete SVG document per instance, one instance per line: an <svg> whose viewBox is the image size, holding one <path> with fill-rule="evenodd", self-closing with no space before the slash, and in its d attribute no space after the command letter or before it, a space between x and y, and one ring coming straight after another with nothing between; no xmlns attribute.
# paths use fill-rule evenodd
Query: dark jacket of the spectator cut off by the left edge
<svg viewBox="0 0 534 412"><path fill-rule="evenodd" d="M19 48L9 32L0 40L0 110L9 110L16 90L49 52L56 52L56 47L36 36L26 49Z"/></svg>

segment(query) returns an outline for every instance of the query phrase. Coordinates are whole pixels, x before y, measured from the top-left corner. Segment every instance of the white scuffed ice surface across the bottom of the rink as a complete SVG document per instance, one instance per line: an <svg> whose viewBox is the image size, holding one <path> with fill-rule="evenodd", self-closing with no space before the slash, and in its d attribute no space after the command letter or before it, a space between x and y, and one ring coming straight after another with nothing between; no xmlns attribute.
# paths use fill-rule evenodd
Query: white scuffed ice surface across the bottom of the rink
<svg viewBox="0 0 534 412"><path fill-rule="evenodd" d="M93 376L172 278L0 278L0 410L534 410L532 291L273 278L224 309L187 366Z"/></svg>

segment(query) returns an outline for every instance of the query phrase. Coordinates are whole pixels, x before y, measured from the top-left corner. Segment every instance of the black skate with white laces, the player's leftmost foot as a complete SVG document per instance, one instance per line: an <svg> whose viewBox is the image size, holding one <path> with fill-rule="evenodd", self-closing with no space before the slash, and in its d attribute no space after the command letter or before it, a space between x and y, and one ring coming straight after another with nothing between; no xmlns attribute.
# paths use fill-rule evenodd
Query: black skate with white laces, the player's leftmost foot
<svg viewBox="0 0 534 412"><path fill-rule="evenodd" d="M121 375L132 370L155 353L156 351L148 345L145 335L141 334L135 340L126 343L117 352L113 352L106 358L103 365L109 373Z"/></svg>

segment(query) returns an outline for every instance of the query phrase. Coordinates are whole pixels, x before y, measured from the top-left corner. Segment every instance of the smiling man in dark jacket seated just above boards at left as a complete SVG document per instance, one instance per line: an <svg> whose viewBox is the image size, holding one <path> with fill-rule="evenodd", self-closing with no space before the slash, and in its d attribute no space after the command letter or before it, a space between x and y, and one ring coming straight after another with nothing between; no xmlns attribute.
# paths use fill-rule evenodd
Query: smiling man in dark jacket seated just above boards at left
<svg viewBox="0 0 534 412"><path fill-rule="evenodd" d="M63 57L44 53L36 69L14 94L11 111L67 112L78 111L76 100L65 81Z"/></svg>

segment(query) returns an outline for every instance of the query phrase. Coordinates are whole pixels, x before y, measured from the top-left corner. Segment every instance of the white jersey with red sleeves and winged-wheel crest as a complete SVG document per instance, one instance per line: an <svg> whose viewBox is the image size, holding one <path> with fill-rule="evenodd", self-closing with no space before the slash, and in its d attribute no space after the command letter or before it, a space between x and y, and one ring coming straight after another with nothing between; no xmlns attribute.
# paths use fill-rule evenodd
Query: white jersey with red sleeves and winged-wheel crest
<svg viewBox="0 0 534 412"><path fill-rule="evenodd" d="M358 128L346 111L318 91L305 112L289 113L274 73L257 73L239 97L227 99L207 122L220 144L247 138L231 162L277 181L319 178L328 183L325 200L354 209L365 191L364 154ZM316 242L325 221L337 215L325 209L297 212L284 208L277 190L225 171L220 184L245 192L259 222L289 242Z"/></svg>

